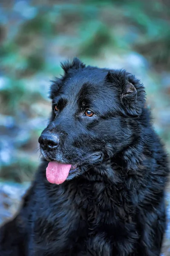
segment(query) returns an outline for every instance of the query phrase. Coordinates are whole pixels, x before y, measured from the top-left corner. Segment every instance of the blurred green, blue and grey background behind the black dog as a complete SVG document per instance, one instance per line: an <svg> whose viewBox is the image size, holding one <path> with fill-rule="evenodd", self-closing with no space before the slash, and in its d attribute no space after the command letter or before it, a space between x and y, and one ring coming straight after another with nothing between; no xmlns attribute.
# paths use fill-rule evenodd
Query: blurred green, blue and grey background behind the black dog
<svg viewBox="0 0 170 256"><path fill-rule="evenodd" d="M74 56L141 79L170 153L169 0L0 0L0 223L14 214L40 163L50 79ZM168 228L165 256L169 221Z"/></svg>

